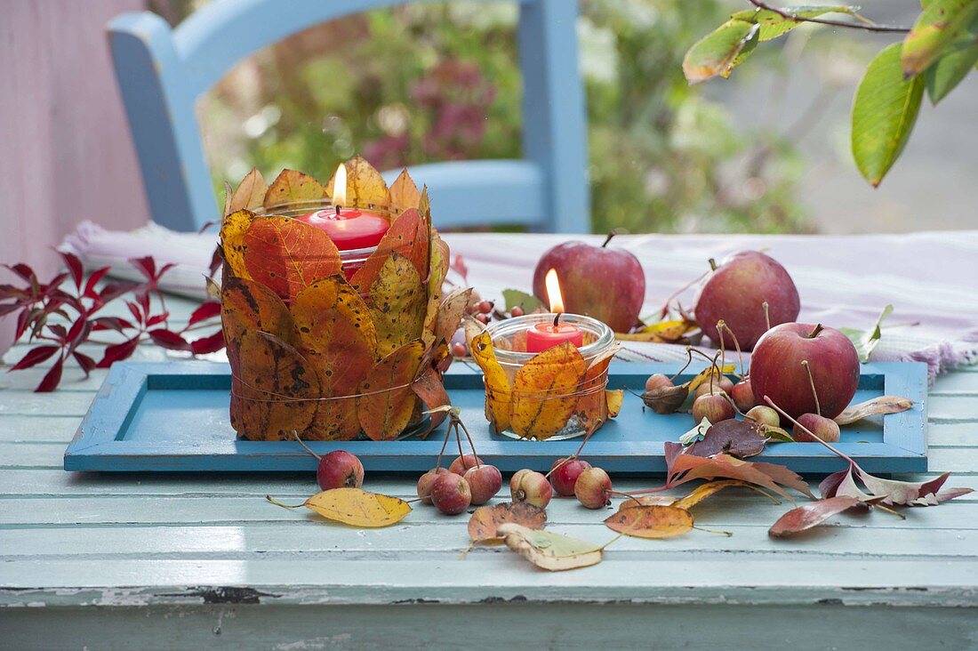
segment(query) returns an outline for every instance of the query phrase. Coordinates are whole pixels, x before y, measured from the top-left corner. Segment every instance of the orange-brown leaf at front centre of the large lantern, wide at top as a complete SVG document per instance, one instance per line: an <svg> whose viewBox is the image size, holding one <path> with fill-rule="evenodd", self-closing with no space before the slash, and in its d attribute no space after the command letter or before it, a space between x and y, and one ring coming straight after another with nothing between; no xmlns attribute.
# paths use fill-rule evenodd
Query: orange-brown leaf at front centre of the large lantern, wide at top
<svg viewBox="0 0 978 651"><path fill-rule="evenodd" d="M340 275L316 281L299 292L292 316L307 359L319 374L323 395L311 431L304 438L349 441L360 433L356 398L360 383L377 359L377 332L367 303Z"/></svg>

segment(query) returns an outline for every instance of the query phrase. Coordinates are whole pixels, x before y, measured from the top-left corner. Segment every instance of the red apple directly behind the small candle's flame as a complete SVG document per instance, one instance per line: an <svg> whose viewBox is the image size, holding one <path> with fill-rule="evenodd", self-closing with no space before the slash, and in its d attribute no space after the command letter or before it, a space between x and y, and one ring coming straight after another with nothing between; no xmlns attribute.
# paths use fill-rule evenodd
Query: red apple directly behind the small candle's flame
<svg viewBox="0 0 978 651"><path fill-rule="evenodd" d="M545 253L533 272L533 293L550 304L544 277L555 269L564 310L592 316L615 332L628 332L639 322L645 301L645 272L636 256L607 248L611 237L600 247L564 242Z"/></svg>

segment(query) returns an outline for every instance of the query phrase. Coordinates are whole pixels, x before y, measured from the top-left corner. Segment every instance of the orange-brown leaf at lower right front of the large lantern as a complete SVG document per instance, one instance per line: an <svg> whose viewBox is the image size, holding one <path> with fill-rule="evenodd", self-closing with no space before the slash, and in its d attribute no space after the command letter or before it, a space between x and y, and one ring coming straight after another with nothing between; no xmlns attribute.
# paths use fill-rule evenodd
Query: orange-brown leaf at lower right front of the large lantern
<svg viewBox="0 0 978 651"><path fill-rule="evenodd" d="M360 427L374 441L388 441L411 422L418 398L411 386L422 363L420 340L405 344L378 361L360 385Z"/></svg>

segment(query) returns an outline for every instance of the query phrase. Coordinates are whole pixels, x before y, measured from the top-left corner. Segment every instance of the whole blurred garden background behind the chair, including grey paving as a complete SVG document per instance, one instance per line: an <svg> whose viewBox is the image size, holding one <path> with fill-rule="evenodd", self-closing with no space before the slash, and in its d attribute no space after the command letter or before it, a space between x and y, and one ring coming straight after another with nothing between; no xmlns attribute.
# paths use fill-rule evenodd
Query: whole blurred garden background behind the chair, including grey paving
<svg viewBox="0 0 978 651"><path fill-rule="evenodd" d="M154 0L179 23L208 0ZM568 0L571 1L571 0ZM896 40L808 24L727 81L690 87L689 46L736 0L582 0L593 227L631 232L879 232L974 227L978 75L921 111L877 189L849 153L853 93ZM389 169L517 158L514 3L421 4L326 23L245 60L200 102L215 194L252 166L328 178L361 154ZM911 24L917 0L863 14ZM970 128L969 128L970 127Z"/></svg>

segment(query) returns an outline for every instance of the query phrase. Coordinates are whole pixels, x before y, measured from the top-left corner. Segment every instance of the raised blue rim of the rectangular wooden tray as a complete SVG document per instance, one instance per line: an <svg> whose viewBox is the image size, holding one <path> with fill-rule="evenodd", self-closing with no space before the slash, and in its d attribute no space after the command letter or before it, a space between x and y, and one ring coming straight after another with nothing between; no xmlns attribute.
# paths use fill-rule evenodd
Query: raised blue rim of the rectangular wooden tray
<svg viewBox="0 0 978 651"><path fill-rule="evenodd" d="M705 364L703 365L705 366ZM698 370L692 366L689 372ZM610 380L623 375L649 375L671 372L675 363L645 363L615 360L612 362ZM99 389L65 451L66 471L98 472L297 472L315 468L315 460L290 442L239 441L236 450L228 452L209 448L207 445L189 446L186 442L132 442L118 441L116 436L124 432L135 414L134 406L149 391L150 378L154 384L186 382L188 377L210 377L222 385L230 375L230 366L223 362L167 361L167 362L118 362ZM474 366L453 364L446 374L479 377ZM881 375L884 395L903 395L914 401L914 406L899 414L883 417L882 442L836 443L843 452L853 456L867 472L909 473L927 470L927 372L923 362L869 362L862 364L861 375ZM157 387L163 389L165 387ZM201 387L202 389L213 387ZM363 455L369 470L376 472L417 472L403 466L407 457L430 457L432 444L440 448L438 437L427 441L389 442L390 452L378 452L378 442L310 442L313 449L328 452L341 446L354 454ZM514 455L512 444L521 446L521 454ZM514 458L521 460L518 467L546 465L557 456L575 451L580 440L566 442L518 442L499 440L482 442L479 456L496 463L504 472ZM611 472L636 472L658 474L664 471L662 442L588 442L586 456L607 460ZM366 458L365 458L366 457ZM401 463L398 463L398 461ZM641 463L640 463L641 460ZM845 468L842 459L831 456L819 443L779 443L766 449L752 460L780 463L797 472L827 474ZM600 462L600 461L599 461ZM641 467L639 467L641 466ZM620 469L615 470L616 467Z"/></svg>

